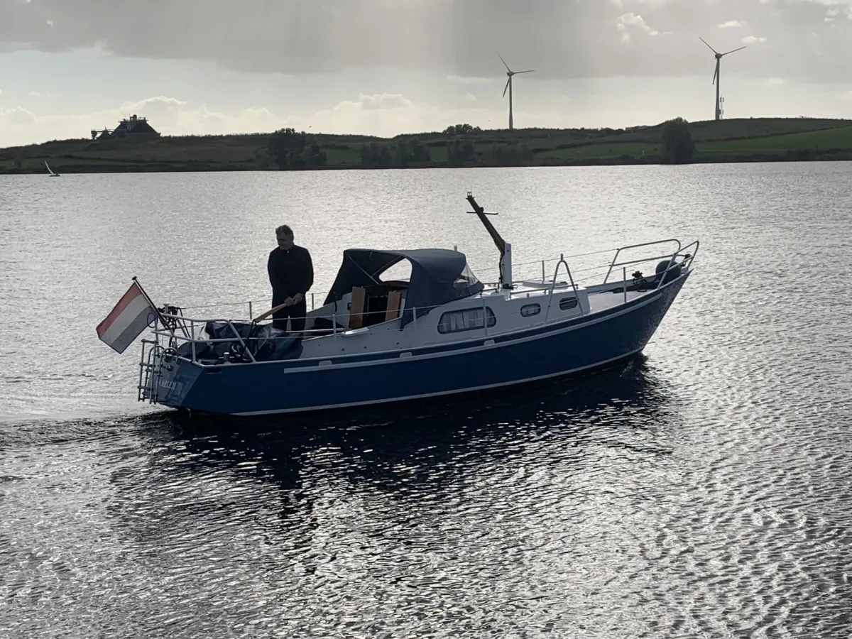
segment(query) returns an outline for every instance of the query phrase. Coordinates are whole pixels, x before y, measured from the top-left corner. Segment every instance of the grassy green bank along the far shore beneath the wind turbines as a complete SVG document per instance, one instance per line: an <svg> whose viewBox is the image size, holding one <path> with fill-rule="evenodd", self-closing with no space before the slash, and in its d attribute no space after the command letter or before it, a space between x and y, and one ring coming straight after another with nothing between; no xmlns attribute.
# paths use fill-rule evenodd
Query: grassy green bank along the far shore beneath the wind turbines
<svg viewBox="0 0 852 639"><path fill-rule="evenodd" d="M393 151L400 141L429 147L429 162L411 166L657 164L662 124L613 129L482 130L469 135L312 135L326 169L360 168L361 148ZM852 120L753 118L690 124L696 162L852 159ZM151 141L65 140L0 149L0 173L43 172L47 160L62 172L271 170L269 134L164 136ZM467 146L462 161L451 147ZM385 166L400 165L384 164Z"/></svg>

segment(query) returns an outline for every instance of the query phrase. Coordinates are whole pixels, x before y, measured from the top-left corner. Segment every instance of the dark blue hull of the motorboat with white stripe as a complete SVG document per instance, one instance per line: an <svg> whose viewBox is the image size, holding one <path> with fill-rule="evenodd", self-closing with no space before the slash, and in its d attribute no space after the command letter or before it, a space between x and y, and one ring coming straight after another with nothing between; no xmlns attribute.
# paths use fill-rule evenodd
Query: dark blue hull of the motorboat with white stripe
<svg viewBox="0 0 852 639"><path fill-rule="evenodd" d="M612 365L645 348L688 278L648 296L559 324L473 342L346 357L331 366L287 360L204 368L170 363L158 403L252 415L408 400L532 382ZM486 344L486 342L493 342Z"/></svg>

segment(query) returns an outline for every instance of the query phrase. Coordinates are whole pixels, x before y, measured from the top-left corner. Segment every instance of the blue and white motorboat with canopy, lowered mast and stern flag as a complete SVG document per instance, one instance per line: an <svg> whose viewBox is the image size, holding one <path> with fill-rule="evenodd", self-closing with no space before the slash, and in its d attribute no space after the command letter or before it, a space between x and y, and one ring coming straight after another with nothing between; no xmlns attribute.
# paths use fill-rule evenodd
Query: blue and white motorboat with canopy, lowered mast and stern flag
<svg viewBox="0 0 852 639"><path fill-rule="evenodd" d="M479 281L458 250L348 249L303 332L273 328L274 309L240 321L156 308L134 281L98 336L122 352L153 324L138 399L190 411L304 412L493 389L641 352L699 247L666 239L619 248L590 285L575 281L564 256L551 278L541 262L540 280L515 281L511 245L467 199L500 252L494 284ZM627 257L636 250L647 252ZM383 278L400 263L410 278ZM655 264L653 274L628 277L642 264Z"/></svg>

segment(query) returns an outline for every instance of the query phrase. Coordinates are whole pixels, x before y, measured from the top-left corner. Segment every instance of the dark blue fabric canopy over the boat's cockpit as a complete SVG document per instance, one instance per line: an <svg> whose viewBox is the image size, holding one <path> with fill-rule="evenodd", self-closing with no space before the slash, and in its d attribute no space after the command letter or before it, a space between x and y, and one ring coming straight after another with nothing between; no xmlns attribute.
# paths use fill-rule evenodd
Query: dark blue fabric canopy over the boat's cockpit
<svg viewBox="0 0 852 639"><path fill-rule="evenodd" d="M348 249L343 251L343 264L324 303L343 299L354 286L387 284L381 279L382 273L402 260L412 265L412 279L407 286L406 307L402 314L403 326L412 321L412 308L417 308L417 317L420 317L431 308L476 295L484 288L468 268L467 258L458 250Z"/></svg>

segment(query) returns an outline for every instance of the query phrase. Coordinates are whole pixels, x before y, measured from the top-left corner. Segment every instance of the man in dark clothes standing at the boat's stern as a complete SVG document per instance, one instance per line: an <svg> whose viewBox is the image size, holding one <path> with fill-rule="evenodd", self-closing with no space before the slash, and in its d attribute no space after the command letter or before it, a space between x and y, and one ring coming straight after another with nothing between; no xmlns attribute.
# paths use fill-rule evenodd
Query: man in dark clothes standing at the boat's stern
<svg viewBox="0 0 852 639"><path fill-rule="evenodd" d="M273 313L273 327L287 329L290 320L291 331L300 333L305 330L305 316L308 304L305 296L314 285L314 264L308 249L293 244L293 231L286 224L275 229L278 248L269 253L267 270L272 285L273 308L285 304Z"/></svg>

